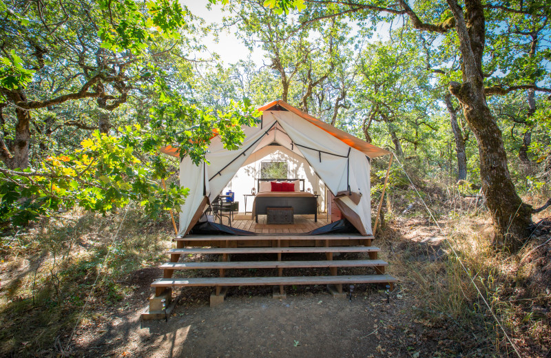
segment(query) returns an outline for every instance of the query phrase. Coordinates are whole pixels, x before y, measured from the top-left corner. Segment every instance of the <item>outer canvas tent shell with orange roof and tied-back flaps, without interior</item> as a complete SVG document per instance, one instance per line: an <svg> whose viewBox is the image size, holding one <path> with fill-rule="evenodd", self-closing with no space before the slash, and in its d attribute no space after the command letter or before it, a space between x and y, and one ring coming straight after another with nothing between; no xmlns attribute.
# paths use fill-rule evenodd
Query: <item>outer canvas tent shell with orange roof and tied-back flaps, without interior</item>
<svg viewBox="0 0 551 358"><path fill-rule="evenodd" d="M251 154L278 143L304 157L327 189L335 204L362 235L371 235L370 160L390 154L364 140L318 120L284 101L273 101L259 108L258 127L244 127L245 140L239 149L224 149L221 140L211 140L204 162L194 165L189 158L180 162L180 185L189 187L189 196L180 212L180 235L198 221L209 202L220 194ZM178 157L174 147L165 154Z"/></svg>

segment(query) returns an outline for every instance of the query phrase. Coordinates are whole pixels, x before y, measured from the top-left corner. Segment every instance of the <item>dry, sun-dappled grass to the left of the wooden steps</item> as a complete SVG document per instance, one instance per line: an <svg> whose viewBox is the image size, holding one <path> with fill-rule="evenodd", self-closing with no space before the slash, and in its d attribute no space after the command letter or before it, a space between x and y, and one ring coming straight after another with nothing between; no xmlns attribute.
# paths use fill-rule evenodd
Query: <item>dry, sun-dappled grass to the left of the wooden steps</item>
<svg viewBox="0 0 551 358"><path fill-rule="evenodd" d="M138 210L129 210L121 226L122 218L64 213L3 238L9 254L1 264L0 355L62 352L85 302L82 324L129 295L133 288L121 284L126 275L165 259L169 220L160 227Z"/></svg>

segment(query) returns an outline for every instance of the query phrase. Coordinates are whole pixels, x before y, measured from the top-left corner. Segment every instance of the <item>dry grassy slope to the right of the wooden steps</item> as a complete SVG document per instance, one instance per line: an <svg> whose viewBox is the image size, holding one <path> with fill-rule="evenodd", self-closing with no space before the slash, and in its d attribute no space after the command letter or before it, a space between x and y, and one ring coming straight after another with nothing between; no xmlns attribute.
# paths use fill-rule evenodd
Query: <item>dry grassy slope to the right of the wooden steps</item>
<svg viewBox="0 0 551 358"><path fill-rule="evenodd" d="M505 255L490 244L485 214L453 217L439 221L444 233L424 218L403 217L382 232L392 273L415 295L419 315L435 326L455 326L464 357L515 357L499 324L522 357L549 357L551 244L532 241Z"/></svg>

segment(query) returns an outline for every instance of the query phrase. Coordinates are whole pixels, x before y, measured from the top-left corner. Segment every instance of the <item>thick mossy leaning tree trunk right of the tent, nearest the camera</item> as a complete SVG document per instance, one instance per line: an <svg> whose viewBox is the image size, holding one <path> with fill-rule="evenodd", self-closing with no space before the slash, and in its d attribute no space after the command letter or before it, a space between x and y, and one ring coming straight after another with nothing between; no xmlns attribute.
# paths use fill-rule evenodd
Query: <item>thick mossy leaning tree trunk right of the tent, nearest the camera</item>
<svg viewBox="0 0 551 358"><path fill-rule="evenodd" d="M450 92L463 105L463 112L475 134L480 156L482 190L495 229L496 246L516 251L528 237L532 207L517 195L507 167L501 130L492 116L484 94L484 8L479 0L466 0L466 12L456 0L448 0L463 57L463 83L450 83ZM468 23L468 26L466 25Z"/></svg>

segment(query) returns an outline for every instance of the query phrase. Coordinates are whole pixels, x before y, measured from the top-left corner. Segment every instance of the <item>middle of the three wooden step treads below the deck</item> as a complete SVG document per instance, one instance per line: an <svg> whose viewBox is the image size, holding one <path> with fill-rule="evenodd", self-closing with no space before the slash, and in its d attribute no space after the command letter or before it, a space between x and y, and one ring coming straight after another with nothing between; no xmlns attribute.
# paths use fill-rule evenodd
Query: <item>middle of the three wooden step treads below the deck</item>
<svg viewBox="0 0 551 358"><path fill-rule="evenodd" d="M236 261L236 262L167 262L166 270L218 268L303 268L303 267L373 267L387 266L383 260L319 260L319 261Z"/></svg>

